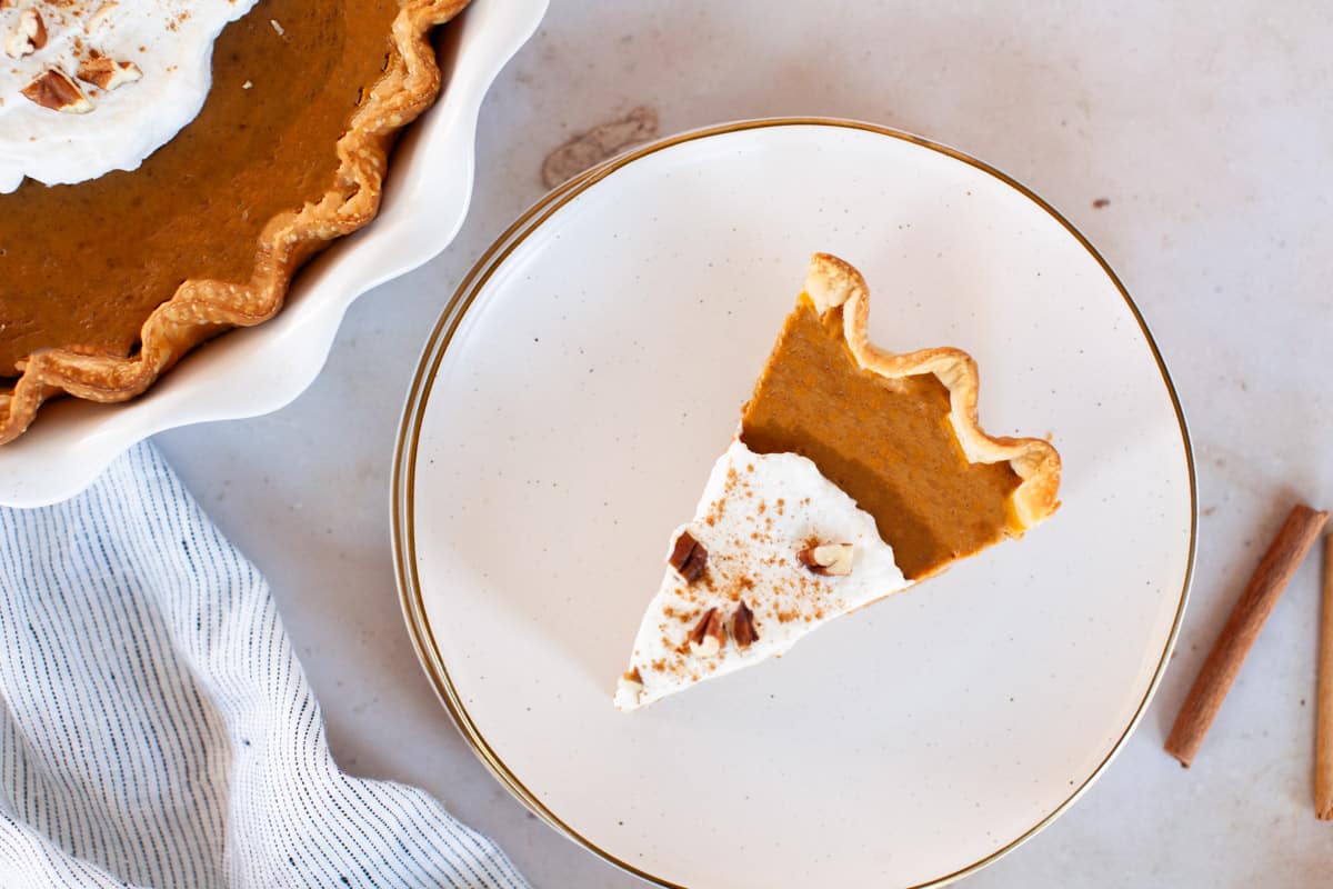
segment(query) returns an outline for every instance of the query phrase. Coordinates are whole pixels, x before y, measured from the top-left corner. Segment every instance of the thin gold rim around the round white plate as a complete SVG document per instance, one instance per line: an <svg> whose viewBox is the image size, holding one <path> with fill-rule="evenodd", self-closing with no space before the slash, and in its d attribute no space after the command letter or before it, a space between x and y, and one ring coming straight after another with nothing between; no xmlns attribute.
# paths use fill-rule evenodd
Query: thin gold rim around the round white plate
<svg viewBox="0 0 1333 889"><path fill-rule="evenodd" d="M413 497L415 497L415 482L416 482L416 454L417 444L421 431L421 415L425 411L425 405L431 399L431 389L435 384L435 375L444 360L444 353L449 348L449 343L453 340L455 332L459 329L459 324L463 321L464 315L467 315L468 308L476 300L477 295L485 288L487 283L495 271L509 257L509 255L532 233L539 228L545 220L548 220L553 213L556 213L561 207L572 201L575 197L585 192L593 184L607 179L617 169L635 163L640 157L656 153L665 148L672 148L681 143L694 141L697 139L708 139L710 136L720 136L724 133L734 133L746 129L762 129L769 127L838 127L844 129L860 129L870 133L877 133L880 136L888 136L889 139L898 139L902 141L912 143L914 145L921 145L933 152L938 152L954 160L962 161L969 167L982 171L989 176L1000 180L1005 185L1013 188L1020 195L1034 203L1037 207L1049 213L1060 225L1065 228L1088 253L1097 261L1106 277L1112 280L1116 289L1120 291L1120 296L1125 300L1125 305L1129 308L1130 315L1134 316L1134 321L1138 324L1138 329L1144 335L1144 340L1148 343L1149 351L1153 353L1153 360L1157 363L1157 369L1161 372L1162 383L1166 385L1166 392L1170 395L1172 407L1176 411L1176 419L1180 423L1180 436L1181 444L1185 449L1185 465L1189 474L1189 504L1190 504L1190 518L1189 518L1189 554L1186 557L1185 565L1185 582L1180 590L1180 604L1176 608L1176 616L1172 621L1170 633L1166 636L1166 642L1162 646L1161 660L1157 662L1157 668L1153 672L1152 681L1148 684L1144 692L1142 700L1138 702L1138 708L1134 710L1134 716L1129 720L1125 730L1112 745L1106 757L1097 765L1096 769L1080 784L1064 802L1057 805L1049 813L1046 813L1037 824L1032 825L1021 834L1006 842L1000 849L989 853L988 856L974 861L969 865L958 868L952 873L942 874L933 880L922 884L917 884L912 889L926 889L928 886L942 886L945 884L960 880L969 873L980 870L988 864L997 861L1005 854L1013 852L1020 845L1040 833L1046 825L1060 817L1073 802L1081 797L1093 781L1096 781L1101 773L1106 769L1110 761L1117 753L1124 748L1125 741L1133 734L1138 722L1142 720L1144 714L1148 712L1148 705L1161 684L1162 674L1166 672L1166 662L1170 658L1170 652L1176 645L1176 637L1180 634L1181 618L1185 614L1185 602L1189 598L1189 586L1194 576L1194 553L1198 541L1198 490L1194 478L1194 452L1190 445L1189 428L1185 424L1185 413L1180 407L1180 397L1176 393L1176 387L1172 383L1170 373L1166 369L1166 363L1162 360L1161 352L1157 349L1157 343L1153 340L1152 332L1148 329L1148 324L1144 321L1142 313L1138 307L1134 305L1133 299L1130 299L1129 292L1125 285L1121 284L1120 279L1106 264L1106 260L1093 248L1082 233L1076 229L1069 220L1061 216L1050 204L1044 201L1029 188L1018 183L1017 180L1006 176L994 167L977 160L969 155L965 155L948 145L941 145L933 143L921 136L914 136L912 133L905 133L897 129L890 129L888 127L880 127L877 124L868 124L862 121L853 120L838 120L833 117L773 117L764 120L742 120L729 124L718 124L714 127L706 127L704 129L694 129L677 136L669 136L666 139L659 140L644 145L636 151L628 152L619 157L595 167L580 176L569 180L564 185L556 188L549 195L543 197L540 201L533 204L523 216L520 216L513 225L504 231L499 239L481 255L476 265L468 272L467 277L459 285L453 297L449 300L444 312L440 315L440 320L436 323L435 329L431 333L431 339L427 343L425 349L421 353L421 361L417 365L416 376L412 380L412 388L408 392L407 404L403 409L403 421L399 427L399 437L395 448L393 457L393 508L392 508L392 530L393 530L393 569L399 582L399 596L403 605L403 616L407 621L408 634L412 637L412 645L416 648L417 660L421 661L421 666L425 670L427 677L435 688L436 694L444 704L445 709L453 717L457 724L459 730L463 732L463 737L472 745L473 752L481 760L481 762L491 770L491 773L503 784L515 797L519 798L524 805L528 806L537 817L549 824L552 828L560 830L571 840L575 840L589 852L593 852L609 864L627 870L636 877L647 880L659 886L666 886L668 889L685 889L678 884L669 882L651 874L635 865L617 858L605 849L597 846L591 840L579 833L573 826L560 820L560 817L548 809L537 796L524 786L523 781L519 780L509 766L505 765L504 760L496 754L496 752L487 742L481 730L472 721L468 714L467 706L459 697L457 690L453 686L453 681L449 677L449 669L444 664L444 658L440 654L440 649L436 645L435 634L431 630L431 621L425 613L425 601L421 597L421 586L416 572L416 533L413 524Z"/></svg>

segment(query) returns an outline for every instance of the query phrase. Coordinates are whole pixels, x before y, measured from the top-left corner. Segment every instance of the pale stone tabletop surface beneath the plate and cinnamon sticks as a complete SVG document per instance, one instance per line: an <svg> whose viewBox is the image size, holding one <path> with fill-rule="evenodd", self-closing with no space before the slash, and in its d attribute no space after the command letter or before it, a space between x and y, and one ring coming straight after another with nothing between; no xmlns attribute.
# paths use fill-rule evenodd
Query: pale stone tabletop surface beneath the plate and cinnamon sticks
<svg viewBox="0 0 1333 889"><path fill-rule="evenodd" d="M1296 1L557 0L483 108L455 244L353 305L291 407L157 443L272 581L344 768L431 789L536 886L640 885L511 800L417 666L388 529L417 353L471 264L541 196L545 155L637 105L664 133L828 115L952 144L1054 204L1118 272L1185 405L1201 508L1190 608L1138 733L1069 813L968 885L1320 885L1333 826L1312 802L1316 560L1196 765L1161 742L1285 510L1333 504L1329 45L1326 9Z"/></svg>

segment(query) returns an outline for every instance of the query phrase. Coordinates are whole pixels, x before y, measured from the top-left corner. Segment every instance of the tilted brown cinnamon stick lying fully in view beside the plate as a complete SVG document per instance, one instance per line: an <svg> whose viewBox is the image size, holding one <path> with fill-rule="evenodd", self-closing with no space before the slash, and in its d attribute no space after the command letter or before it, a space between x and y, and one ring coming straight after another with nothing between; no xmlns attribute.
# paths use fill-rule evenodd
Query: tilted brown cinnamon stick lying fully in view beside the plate
<svg viewBox="0 0 1333 889"><path fill-rule="evenodd" d="M1282 589L1292 580L1305 554L1310 552L1328 517L1326 512L1316 512L1305 504L1293 506L1282 529L1277 532L1277 537L1269 544L1268 552L1250 576L1245 592L1232 608L1226 625L1208 652L1208 658L1166 737L1166 752L1180 760L1182 766L1189 768L1194 761L1194 754L1198 753L1208 728L1217 717L1226 692L1236 681L1245 656L1258 638L1264 621L1273 612L1278 596L1282 594Z"/></svg>

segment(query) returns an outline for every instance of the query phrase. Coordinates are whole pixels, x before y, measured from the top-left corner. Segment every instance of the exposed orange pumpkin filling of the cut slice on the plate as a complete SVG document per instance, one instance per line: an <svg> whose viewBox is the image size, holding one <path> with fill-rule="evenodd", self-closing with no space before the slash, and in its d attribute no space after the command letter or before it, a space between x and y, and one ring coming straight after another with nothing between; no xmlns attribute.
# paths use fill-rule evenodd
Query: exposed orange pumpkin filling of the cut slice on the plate
<svg viewBox="0 0 1333 889"><path fill-rule="evenodd" d="M968 462L933 373L886 380L842 336L842 307L821 317L801 296L754 395L741 441L798 453L869 512L909 580L1018 530L1008 462Z"/></svg>

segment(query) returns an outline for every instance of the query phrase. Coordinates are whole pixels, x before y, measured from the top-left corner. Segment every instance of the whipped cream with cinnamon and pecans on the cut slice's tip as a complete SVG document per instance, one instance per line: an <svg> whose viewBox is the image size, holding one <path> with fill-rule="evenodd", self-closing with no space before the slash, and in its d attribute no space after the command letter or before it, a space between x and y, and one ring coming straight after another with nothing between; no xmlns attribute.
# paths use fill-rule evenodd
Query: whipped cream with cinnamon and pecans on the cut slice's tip
<svg viewBox="0 0 1333 889"><path fill-rule="evenodd" d="M822 624L912 585L874 517L810 460L754 453L738 436L713 465L694 518L672 534L668 561L682 533L706 550L706 568L693 581L666 569L616 690L621 710L781 654ZM806 564L816 546L834 549L838 564ZM749 626L737 629L742 602ZM710 612L712 632L698 632Z"/></svg>

